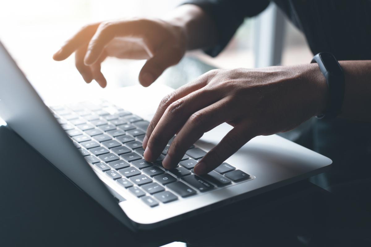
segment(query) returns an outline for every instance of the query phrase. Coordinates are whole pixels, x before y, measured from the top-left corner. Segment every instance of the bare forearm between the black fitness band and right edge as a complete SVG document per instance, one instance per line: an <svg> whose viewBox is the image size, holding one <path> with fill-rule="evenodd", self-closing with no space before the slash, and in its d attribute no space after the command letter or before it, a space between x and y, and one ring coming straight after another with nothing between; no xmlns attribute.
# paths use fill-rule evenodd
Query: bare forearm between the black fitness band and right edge
<svg viewBox="0 0 371 247"><path fill-rule="evenodd" d="M339 117L371 122L371 60L339 61L345 94Z"/></svg>

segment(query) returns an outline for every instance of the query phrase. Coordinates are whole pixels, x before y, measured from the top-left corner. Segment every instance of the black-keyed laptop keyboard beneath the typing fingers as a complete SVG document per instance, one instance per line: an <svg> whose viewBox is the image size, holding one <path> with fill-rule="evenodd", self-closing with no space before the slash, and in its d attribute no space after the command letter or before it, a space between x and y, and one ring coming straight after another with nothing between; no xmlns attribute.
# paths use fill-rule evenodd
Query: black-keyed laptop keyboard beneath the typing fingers
<svg viewBox="0 0 371 247"><path fill-rule="evenodd" d="M249 174L228 163L202 177L195 175L193 168L206 152L194 145L176 168L164 169L162 160L174 137L155 162L147 162L143 158L142 141L149 122L107 101L50 109L95 170L115 180L150 207L251 179Z"/></svg>

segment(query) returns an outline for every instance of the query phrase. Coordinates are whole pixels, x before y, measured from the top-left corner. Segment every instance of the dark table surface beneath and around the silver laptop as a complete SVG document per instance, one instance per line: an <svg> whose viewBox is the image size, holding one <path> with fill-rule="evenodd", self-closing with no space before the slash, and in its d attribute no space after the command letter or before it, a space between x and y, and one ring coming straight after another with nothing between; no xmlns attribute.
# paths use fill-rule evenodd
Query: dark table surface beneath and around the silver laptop
<svg viewBox="0 0 371 247"><path fill-rule="evenodd" d="M3 247L371 246L370 210L308 181L133 233L6 126L0 170Z"/></svg>

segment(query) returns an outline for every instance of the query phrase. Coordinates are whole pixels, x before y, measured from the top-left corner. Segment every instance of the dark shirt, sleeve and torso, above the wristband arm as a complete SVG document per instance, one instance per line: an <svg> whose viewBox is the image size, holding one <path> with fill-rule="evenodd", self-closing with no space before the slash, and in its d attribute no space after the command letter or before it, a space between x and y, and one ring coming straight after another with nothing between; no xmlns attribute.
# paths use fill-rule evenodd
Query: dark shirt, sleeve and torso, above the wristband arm
<svg viewBox="0 0 371 247"><path fill-rule="evenodd" d="M207 50L216 56L245 17L262 12L268 0L191 0L215 21L219 41ZM327 51L338 60L371 59L370 0L274 0L308 41L313 54Z"/></svg>

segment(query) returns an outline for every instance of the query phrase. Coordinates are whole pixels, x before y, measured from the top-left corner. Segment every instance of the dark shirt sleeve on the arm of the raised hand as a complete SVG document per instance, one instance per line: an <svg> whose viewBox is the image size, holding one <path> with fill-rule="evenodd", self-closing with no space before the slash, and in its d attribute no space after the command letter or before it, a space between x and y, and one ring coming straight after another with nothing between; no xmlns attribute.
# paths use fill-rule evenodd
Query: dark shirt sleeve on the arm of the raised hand
<svg viewBox="0 0 371 247"><path fill-rule="evenodd" d="M228 44L245 17L256 16L269 4L269 0L190 0L183 4L195 4L203 9L216 24L218 41L204 51L216 57Z"/></svg>

